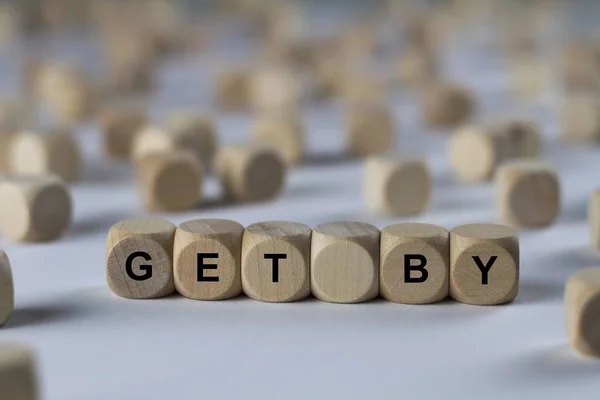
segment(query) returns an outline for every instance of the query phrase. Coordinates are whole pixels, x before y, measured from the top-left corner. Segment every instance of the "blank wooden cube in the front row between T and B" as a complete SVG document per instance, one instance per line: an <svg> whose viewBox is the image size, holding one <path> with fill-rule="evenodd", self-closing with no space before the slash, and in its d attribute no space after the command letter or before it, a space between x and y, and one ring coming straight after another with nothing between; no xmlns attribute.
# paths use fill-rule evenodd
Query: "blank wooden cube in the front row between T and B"
<svg viewBox="0 0 600 400"><path fill-rule="evenodd" d="M311 290L331 303L360 303L379 292L379 230L362 222L313 229Z"/></svg>

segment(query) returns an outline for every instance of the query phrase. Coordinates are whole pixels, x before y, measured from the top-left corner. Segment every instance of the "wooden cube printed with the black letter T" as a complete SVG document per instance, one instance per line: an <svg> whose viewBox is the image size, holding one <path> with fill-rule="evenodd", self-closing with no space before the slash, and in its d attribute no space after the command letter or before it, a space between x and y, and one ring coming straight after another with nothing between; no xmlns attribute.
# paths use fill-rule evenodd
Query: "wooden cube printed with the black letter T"
<svg viewBox="0 0 600 400"><path fill-rule="evenodd" d="M296 301L310 294L312 230L295 222L252 224L242 242L242 286L266 302Z"/></svg>

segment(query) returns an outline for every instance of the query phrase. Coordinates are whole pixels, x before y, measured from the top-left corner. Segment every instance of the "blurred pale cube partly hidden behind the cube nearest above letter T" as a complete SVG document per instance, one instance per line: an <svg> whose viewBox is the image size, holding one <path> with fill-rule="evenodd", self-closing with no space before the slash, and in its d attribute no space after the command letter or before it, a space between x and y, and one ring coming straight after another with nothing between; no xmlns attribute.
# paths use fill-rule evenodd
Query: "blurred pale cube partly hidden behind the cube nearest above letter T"
<svg viewBox="0 0 600 400"><path fill-rule="evenodd" d="M305 133L298 115L267 115L256 121L254 138L279 151L288 165L297 165L305 154Z"/></svg>

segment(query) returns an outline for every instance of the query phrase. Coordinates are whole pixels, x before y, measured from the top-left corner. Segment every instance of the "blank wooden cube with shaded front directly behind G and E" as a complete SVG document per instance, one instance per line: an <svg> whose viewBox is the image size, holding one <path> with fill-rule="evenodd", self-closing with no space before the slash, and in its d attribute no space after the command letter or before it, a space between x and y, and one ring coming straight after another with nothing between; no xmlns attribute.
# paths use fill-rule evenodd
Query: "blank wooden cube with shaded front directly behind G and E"
<svg viewBox="0 0 600 400"><path fill-rule="evenodd" d="M151 153L138 160L136 167L146 209L182 211L200 204L203 167L191 152Z"/></svg>

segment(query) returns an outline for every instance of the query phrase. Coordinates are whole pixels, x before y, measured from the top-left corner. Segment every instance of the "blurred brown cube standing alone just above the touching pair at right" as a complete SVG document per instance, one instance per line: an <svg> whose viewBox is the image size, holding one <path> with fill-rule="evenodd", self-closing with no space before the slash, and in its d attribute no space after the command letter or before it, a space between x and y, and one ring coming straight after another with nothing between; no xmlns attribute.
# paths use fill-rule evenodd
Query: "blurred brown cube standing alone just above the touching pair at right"
<svg viewBox="0 0 600 400"><path fill-rule="evenodd" d="M432 128L455 128L467 123L475 114L473 93L454 84L432 84L423 94L423 115Z"/></svg>

